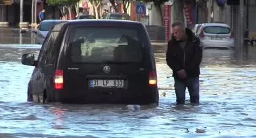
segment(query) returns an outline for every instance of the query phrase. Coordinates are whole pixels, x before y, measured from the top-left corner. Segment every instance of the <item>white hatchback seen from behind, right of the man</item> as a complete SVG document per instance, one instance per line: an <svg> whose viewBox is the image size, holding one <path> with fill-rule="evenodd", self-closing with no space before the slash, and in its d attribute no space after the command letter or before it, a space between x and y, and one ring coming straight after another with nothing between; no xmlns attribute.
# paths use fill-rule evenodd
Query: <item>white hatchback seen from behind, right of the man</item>
<svg viewBox="0 0 256 138"><path fill-rule="evenodd" d="M203 48L234 48L234 34L227 24L202 24L197 36Z"/></svg>

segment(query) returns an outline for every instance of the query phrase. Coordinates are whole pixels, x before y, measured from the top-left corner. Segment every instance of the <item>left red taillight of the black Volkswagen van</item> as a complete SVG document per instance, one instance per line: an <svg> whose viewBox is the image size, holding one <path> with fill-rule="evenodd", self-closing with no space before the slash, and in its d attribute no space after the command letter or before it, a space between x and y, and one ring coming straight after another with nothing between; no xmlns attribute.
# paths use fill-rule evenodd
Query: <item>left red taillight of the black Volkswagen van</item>
<svg viewBox="0 0 256 138"><path fill-rule="evenodd" d="M57 69L54 71L53 88L55 90L60 90L63 88L63 70Z"/></svg>

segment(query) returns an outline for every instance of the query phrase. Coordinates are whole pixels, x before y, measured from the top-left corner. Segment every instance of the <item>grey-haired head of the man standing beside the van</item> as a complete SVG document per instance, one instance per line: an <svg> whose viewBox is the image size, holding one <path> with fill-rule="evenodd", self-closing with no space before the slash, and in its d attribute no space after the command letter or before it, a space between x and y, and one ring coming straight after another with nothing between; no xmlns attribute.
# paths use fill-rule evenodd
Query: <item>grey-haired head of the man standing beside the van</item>
<svg viewBox="0 0 256 138"><path fill-rule="evenodd" d="M186 37L186 27L183 22L174 22L171 27L173 28L173 37L180 41Z"/></svg>

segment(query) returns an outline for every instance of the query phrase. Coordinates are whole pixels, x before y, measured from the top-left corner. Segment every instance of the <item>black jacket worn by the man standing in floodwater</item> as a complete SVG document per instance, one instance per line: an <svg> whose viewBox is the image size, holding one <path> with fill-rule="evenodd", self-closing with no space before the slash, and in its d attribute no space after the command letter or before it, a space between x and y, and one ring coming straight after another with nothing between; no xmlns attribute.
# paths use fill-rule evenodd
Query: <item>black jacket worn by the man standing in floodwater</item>
<svg viewBox="0 0 256 138"><path fill-rule="evenodd" d="M166 61L173 70L173 77L178 77L177 71L185 69L187 77L198 77L200 75L200 63L202 61L202 47L200 39L186 29L188 44L184 50L179 46L179 41L173 37L168 42Z"/></svg>

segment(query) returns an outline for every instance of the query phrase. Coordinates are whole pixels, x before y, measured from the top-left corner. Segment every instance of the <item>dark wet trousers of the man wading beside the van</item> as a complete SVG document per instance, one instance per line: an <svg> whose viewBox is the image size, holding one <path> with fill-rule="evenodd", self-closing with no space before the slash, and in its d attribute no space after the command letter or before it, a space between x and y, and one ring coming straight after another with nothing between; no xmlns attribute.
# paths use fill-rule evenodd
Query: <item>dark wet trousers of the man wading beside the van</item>
<svg viewBox="0 0 256 138"><path fill-rule="evenodd" d="M174 82L177 105L185 104L186 88L188 88L190 95L190 103L199 104L199 77L190 77L183 80L174 78Z"/></svg>

